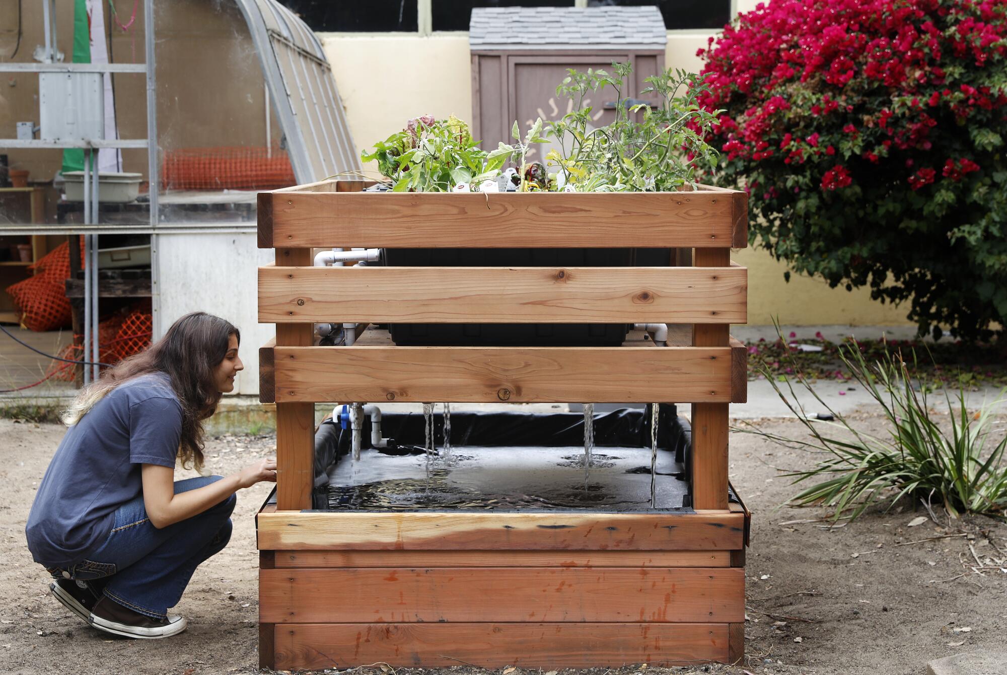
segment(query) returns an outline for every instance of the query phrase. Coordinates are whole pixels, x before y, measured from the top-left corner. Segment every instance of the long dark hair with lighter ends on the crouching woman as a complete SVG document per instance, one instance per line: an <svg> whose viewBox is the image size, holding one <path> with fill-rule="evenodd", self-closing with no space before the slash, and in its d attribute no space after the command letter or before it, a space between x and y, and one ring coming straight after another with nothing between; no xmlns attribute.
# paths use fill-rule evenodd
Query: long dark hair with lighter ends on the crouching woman
<svg viewBox="0 0 1007 675"><path fill-rule="evenodd" d="M231 335L242 333L231 321L202 311L185 314L159 341L107 370L85 387L61 415L63 424L77 424L89 410L122 383L151 373L165 373L182 406L182 433L178 457L182 466L202 467L202 420L217 410L221 392L215 370L228 353Z"/></svg>

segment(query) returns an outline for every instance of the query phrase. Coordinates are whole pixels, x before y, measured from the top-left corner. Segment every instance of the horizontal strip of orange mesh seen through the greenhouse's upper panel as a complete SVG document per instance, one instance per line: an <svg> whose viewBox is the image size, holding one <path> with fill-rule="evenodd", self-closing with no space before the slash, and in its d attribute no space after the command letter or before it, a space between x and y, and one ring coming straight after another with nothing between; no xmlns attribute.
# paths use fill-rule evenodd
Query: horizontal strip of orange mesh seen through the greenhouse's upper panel
<svg viewBox="0 0 1007 675"><path fill-rule="evenodd" d="M165 189L277 189L294 184L290 157L279 147L167 150L161 164Z"/></svg>

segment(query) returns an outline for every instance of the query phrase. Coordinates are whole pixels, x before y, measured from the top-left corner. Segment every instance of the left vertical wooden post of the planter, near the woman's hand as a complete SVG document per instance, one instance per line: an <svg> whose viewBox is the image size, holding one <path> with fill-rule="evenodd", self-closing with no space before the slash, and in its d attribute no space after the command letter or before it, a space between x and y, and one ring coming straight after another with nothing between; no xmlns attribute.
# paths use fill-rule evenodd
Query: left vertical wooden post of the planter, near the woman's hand
<svg viewBox="0 0 1007 675"><path fill-rule="evenodd" d="M311 265L311 249L276 249L277 267ZM277 323L277 347L311 347L310 323ZM314 404L276 404L276 508L311 508L314 483Z"/></svg>

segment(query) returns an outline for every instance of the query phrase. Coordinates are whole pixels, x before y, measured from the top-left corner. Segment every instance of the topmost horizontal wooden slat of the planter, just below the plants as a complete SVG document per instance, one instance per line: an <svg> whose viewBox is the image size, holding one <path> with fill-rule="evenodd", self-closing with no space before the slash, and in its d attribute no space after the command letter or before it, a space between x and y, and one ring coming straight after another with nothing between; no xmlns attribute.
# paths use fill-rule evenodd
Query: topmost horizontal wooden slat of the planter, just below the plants
<svg viewBox="0 0 1007 675"><path fill-rule="evenodd" d="M259 210L261 248L725 247L738 220L720 190L261 192Z"/></svg>

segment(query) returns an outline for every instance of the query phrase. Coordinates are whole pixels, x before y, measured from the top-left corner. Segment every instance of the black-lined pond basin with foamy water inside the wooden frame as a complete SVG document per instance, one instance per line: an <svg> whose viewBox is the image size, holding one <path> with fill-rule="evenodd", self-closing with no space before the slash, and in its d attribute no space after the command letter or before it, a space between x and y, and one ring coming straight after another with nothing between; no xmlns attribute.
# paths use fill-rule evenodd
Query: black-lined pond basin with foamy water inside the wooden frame
<svg viewBox="0 0 1007 675"><path fill-rule="evenodd" d="M654 511L650 406L594 416L594 461L586 476L582 413L454 412L448 456L439 410L433 422L439 455L429 465L420 412L382 415L382 434L391 439L387 448L371 447L367 419L356 462L350 454L350 431L324 422L315 435L314 510ZM674 405L662 404L658 512L692 511L686 479L691 437L689 421L677 415ZM733 494L729 497L737 501Z"/></svg>

